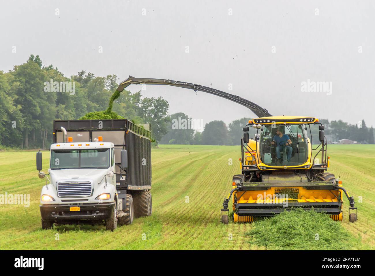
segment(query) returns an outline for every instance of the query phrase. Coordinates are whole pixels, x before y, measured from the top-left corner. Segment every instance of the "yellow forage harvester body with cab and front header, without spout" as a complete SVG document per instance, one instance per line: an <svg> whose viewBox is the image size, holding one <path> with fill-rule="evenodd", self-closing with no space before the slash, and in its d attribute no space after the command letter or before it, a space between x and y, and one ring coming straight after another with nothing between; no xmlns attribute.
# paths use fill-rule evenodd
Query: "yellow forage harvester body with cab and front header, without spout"
<svg viewBox="0 0 375 276"><path fill-rule="evenodd" d="M312 141L312 126L319 141ZM249 139L249 129L257 130ZM314 117L269 116L250 120L241 141L241 174L233 176L233 189L224 199L221 221L228 223L229 199L235 222L252 222L301 207L343 218L343 194L350 202L349 220L357 220L354 199L329 168L324 126ZM315 142L315 146L313 145ZM355 211L355 212L354 212ZM226 214L226 212L228 214Z"/></svg>

